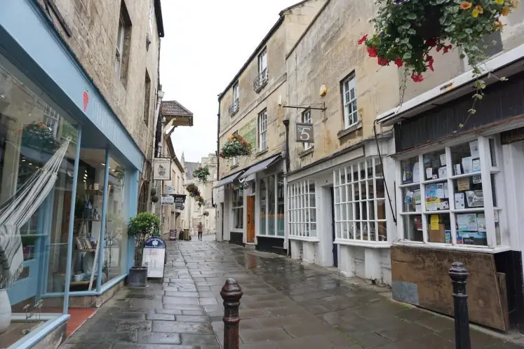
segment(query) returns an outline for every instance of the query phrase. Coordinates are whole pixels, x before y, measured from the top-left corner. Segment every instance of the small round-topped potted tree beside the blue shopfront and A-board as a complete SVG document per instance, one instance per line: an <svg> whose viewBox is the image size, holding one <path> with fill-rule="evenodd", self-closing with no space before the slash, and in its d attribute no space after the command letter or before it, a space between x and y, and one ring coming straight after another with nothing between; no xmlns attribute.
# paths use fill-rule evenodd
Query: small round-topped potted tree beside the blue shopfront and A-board
<svg viewBox="0 0 524 349"><path fill-rule="evenodd" d="M142 212L129 221L128 235L135 237L135 266L129 269L128 285L145 287L147 267L142 266L144 243L152 236L159 236L160 219L149 212Z"/></svg>

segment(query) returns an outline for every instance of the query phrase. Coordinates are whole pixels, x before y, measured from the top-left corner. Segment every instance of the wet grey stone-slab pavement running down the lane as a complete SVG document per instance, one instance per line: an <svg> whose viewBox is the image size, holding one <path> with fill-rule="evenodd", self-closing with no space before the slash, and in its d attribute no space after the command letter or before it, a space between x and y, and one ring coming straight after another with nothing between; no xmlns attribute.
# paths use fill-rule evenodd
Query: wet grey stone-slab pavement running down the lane
<svg viewBox="0 0 524 349"><path fill-rule="evenodd" d="M455 348L452 319L391 301L387 289L212 239L168 242L163 283L121 290L60 348L221 348L226 278L244 293L242 349ZM473 349L521 340L471 329Z"/></svg>

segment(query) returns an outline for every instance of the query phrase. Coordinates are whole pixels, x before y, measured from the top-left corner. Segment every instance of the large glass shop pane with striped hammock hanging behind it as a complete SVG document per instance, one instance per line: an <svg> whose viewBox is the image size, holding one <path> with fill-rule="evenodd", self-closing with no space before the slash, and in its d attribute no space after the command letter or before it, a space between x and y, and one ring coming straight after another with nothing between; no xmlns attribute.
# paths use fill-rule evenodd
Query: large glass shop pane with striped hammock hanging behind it
<svg viewBox="0 0 524 349"><path fill-rule="evenodd" d="M1 348L63 313L77 135L65 111L0 55L0 292L25 319L2 331Z"/></svg>

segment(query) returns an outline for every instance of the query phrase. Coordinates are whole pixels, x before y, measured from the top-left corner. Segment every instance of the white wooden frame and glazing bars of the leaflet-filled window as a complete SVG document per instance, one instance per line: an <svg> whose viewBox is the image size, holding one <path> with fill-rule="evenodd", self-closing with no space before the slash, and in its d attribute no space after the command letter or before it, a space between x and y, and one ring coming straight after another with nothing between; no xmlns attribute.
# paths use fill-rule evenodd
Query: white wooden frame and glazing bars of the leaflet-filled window
<svg viewBox="0 0 524 349"><path fill-rule="evenodd" d="M495 157L496 163L492 163L491 158L491 152L490 152L490 139L493 139L492 145L495 146L495 149L493 150L493 155ZM478 151L479 151L479 158L481 160L481 172L474 172L469 174L461 174L461 175L455 175L453 170L453 163L452 163L452 154L451 154L451 148L453 146L458 146L462 144L468 144L469 142L478 141ZM415 188L419 189L421 193L421 199L422 202L424 202L425 199L425 187L428 184L436 183L436 182L443 182L443 179L426 179L425 171L423 170L423 166L420 167L419 170L419 178L414 179L412 184L402 184L402 166L401 161L407 160L409 158L413 158L413 155L410 156L403 156L401 158L398 158L396 161L396 182L399 183L397 186L397 207L399 208L399 217L398 217L398 238L399 238L399 244L401 245L419 245L419 246L427 246L427 247L436 247L436 248L443 248L443 249L459 249L459 250L472 250L472 251L480 251L480 252L496 252L497 250L505 250L508 247L509 244L509 238L504 232L504 223L502 221L502 213L504 212L503 205L504 200L501 198L502 192L504 191L503 183L504 180L501 179L495 179L495 181L492 181L492 176L497 178L501 177L503 175L502 172L502 156L500 155L502 146L500 145L499 139L497 137L493 136L481 136L481 137L464 137L461 139L455 139L452 142L449 142L448 144L445 144L445 146L442 146L439 144L438 146L432 146L428 147L427 149L424 149L422 153L418 153L416 156L418 158L419 164L423 164L424 161L424 154L427 153L433 153L435 151L443 151L446 156L446 175L447 177L444 179L446 183L448 184L448 198L449 200L449 210L438 210L438 211L428 211L426 205L422 205L420 212L405 212L404 207L404 200L403 200L403 191L406 188ZM482 191L483 191L483 201L484 201L484 207L478 207L478 208L464 208L464 209L457 209L455 207L455 180L461 179L461 178L470 178L473 176L481 175L481 181L482 181ZM415 182L415 180L418 180L418 182ZM501 182L502 181L502 182ZM493 202L493 192L492 188L495 185L496 190L496 200L497 200L497 206L494 205ZM484 213L485 217L485 225L486 225L486 238L488 245L464 245L464 244L457 244L457 214L466 214L466 213ZM450 230L451 230L451 241L450 243L441 243L441 242L430 242L429 241L429 231L428 231L428 224L430 224L430 217L431 214L450 214ZM499 217L498 221L495 221L495 219L490 217ZM422 219L422 242L419 241L413 241L408 240L405 236L405 217L421 217ZM498 223L498 224L497 224ZM497 233L497 227L498 226L498 233Z"/></svg>

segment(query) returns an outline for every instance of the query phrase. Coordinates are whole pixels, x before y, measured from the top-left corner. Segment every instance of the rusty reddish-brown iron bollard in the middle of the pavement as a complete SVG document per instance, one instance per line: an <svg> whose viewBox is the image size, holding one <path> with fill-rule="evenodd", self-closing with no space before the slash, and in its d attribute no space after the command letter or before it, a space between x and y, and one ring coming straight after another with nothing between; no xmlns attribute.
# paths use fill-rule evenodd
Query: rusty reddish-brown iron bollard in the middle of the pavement
<svg viewBox="0 0 524 349"><path fill-rule="evenodd" d="M239 306L242 289L235 279L227 279L220 296L224 299L224 349L239 349Z"/></svg>

